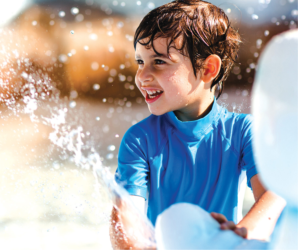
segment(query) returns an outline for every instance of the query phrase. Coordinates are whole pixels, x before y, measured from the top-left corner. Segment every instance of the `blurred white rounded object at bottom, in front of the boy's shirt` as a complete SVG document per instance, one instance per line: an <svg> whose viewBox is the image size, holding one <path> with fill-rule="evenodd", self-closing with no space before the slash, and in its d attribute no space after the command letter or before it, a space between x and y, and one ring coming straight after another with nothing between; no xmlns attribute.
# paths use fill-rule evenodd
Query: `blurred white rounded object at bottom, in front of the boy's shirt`
<svg viewBox="0 0 298 250"><path fill-rule="evenodd" d="M157 249L266 249L267 243L246 240L219 223L201 207L176 203L157 217Z"/></svg>

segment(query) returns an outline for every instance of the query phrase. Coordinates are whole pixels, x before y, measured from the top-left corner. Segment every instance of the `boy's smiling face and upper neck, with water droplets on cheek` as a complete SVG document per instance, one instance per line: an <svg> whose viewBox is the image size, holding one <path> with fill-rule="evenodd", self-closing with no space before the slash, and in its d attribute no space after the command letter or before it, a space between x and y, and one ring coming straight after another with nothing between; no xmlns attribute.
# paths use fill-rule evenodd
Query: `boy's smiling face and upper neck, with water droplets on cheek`
<svg viewBox="0 0 298 250"><path fill-rule="evenodd" d="M180 47L180 41L176 41L176 47ZM162 115L175 111L181 121L198 119L198 110L206 100L206 93L209 100L212 98L210 86L209 89L205 86L200 71L195 78L188 57L173 47L169 50L170 57L167 55L166 38L156 38L153 45L162 55L157 55L152 48L148 50L140 43L136 44L136 62L139 64L136 86L144 95L150 112Z"/></svg>

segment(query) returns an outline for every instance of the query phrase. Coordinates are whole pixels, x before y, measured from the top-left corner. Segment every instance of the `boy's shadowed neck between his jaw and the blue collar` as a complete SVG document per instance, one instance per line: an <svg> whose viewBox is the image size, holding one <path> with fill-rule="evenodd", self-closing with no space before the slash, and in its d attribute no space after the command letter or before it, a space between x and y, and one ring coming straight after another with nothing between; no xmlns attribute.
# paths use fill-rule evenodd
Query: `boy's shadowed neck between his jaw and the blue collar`
<svg viewBox="0 0 298 250"><path fill-rule="evenodd" d="M213 106L213 101L214 99L207 100L199 104L195 110L175 110L174 114L179 121L195 121L209 114Z"/></svg>

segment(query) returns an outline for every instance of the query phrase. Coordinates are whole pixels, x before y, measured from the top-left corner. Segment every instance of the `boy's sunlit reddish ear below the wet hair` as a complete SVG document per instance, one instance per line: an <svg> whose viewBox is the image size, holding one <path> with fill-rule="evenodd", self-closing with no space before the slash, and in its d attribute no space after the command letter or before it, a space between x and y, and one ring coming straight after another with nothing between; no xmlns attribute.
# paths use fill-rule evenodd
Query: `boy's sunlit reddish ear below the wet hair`
<svg viewBox="0 0 298 250"><path fill-rule="evenodd" d="M201 75L205 83L211 82L221 69L221 58L218 55L209 55L204 64L204 70Z"/></svg>

